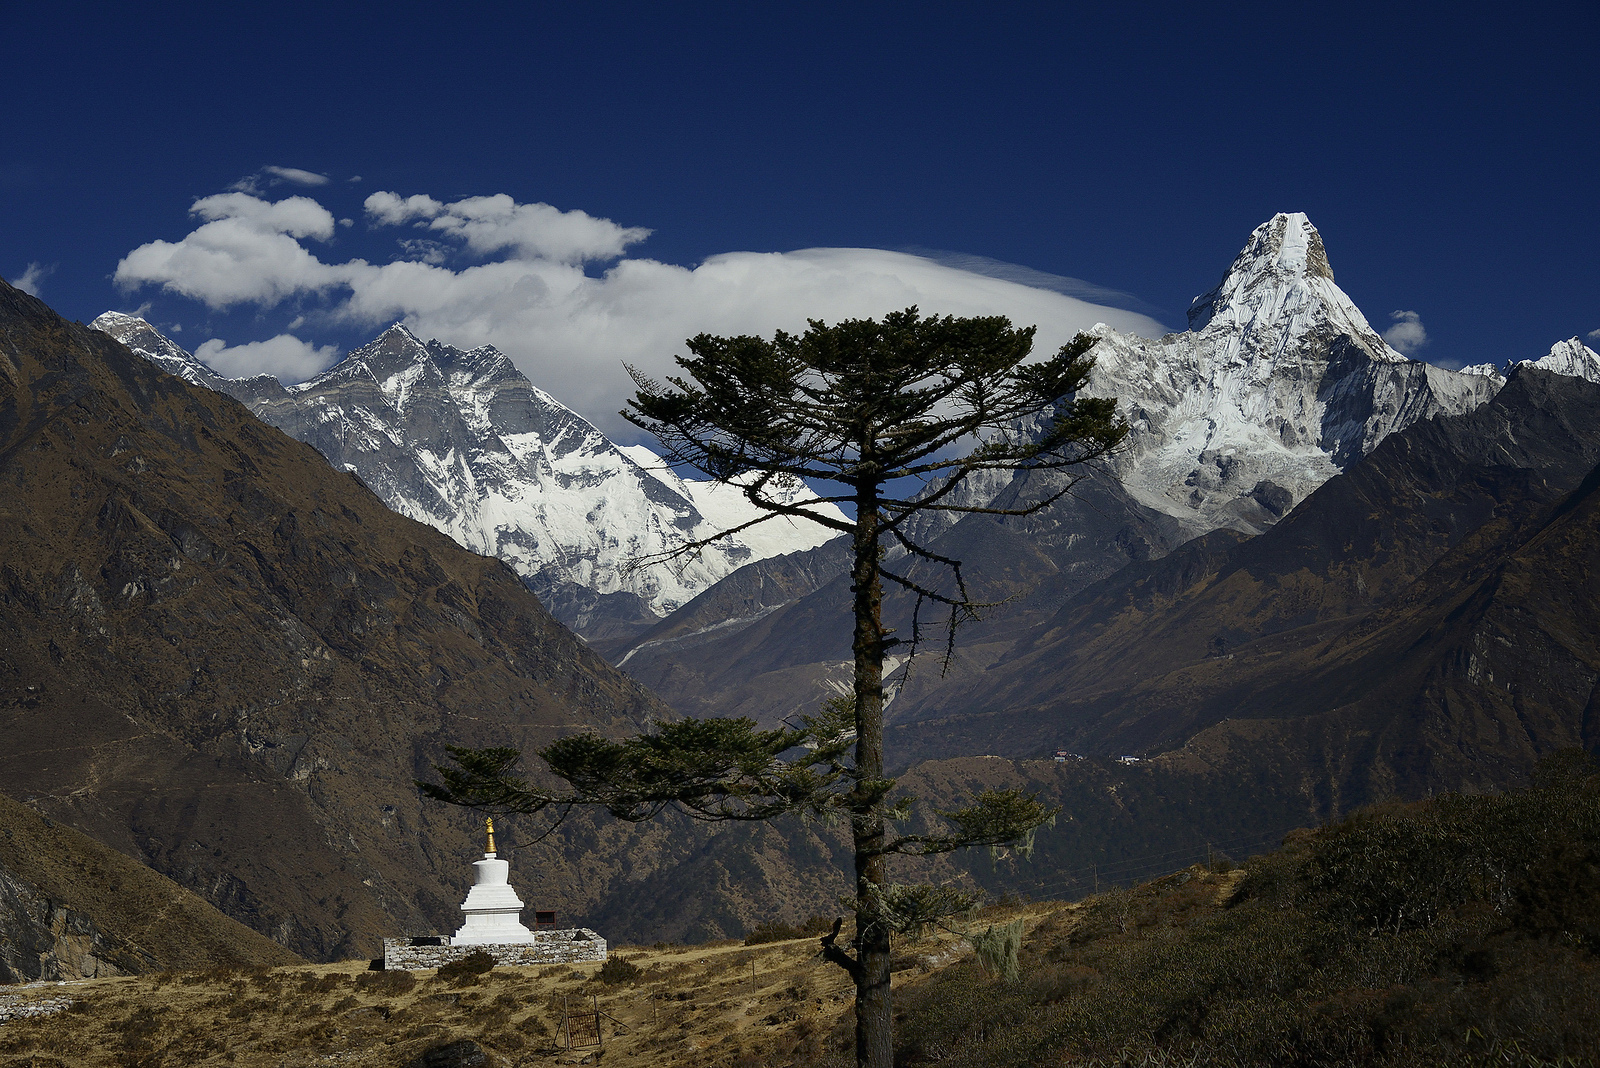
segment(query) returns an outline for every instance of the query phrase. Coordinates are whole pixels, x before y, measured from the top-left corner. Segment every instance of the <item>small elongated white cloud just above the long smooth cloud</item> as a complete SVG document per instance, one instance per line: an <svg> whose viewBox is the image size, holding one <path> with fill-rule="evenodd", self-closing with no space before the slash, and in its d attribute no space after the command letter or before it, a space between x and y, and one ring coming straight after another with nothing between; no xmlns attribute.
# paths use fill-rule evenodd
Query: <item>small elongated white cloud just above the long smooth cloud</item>
<svg viewBox="0 0 1600 1068"><path fill-rule="evenodd" d="M366 198L366 213L382 225L426 221L427 229L459 238L480 256L512 251L525 259L562 264L608 261L650 237L645 227L621 227L587 211L550 205L518 205L506 193L467 197L445 205L427 195L379 192Z"/></svg>

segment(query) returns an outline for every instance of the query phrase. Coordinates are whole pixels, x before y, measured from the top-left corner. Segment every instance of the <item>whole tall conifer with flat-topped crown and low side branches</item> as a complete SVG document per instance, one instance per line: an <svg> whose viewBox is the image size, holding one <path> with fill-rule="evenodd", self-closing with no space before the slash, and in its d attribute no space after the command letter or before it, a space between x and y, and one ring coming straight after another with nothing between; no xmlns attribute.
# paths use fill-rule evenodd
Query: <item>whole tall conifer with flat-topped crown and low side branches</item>
<svg viewBox="0 0 1600 1068"><path fill-rule="evenodd" d="M422 788L451 804L512 812L594 804L622 820L648 820L667 806L710 820L848 819L854 935L848 948L838 945L835 921L822 951L856 983L858 1065L888 1068L890 935L973 903L947 887L888 883L888 857L1026 844L1053 819L1034 796L998 790L939 812L949 825L942 833L896 833L912 799L891 801L894 780L883 774L883 660L899 644L883 628L885 580L910 592L918 609L942 606L949 643L982 608L962 563L923 544L912 520L1038 512L1126 433L1114 401L1077 395L1093 337L1080 334L1050 360L1026 363L1032 345L1034 328L1003 317L923 318L912 307L883 321L811 321L805 334L779 331L771 341L701 334L678 358L683 374L664 384L629 368L638 393L622 416L661 441L667 462L738 484L762 510L718 536L794 516L851 537L853 694L770 731L750 719L680 719L621 742L560 739L539 756L566 783L562 790L518 777L515 750L451 748L454 766ZM963 480L994 470L1067 476L1005 508L963 502ZM853 518L795 502L802 480L840 488L821 500L848 507ZM950 582L920 577L930 569ZM914 624L912 652L918 630Z"/></svg>

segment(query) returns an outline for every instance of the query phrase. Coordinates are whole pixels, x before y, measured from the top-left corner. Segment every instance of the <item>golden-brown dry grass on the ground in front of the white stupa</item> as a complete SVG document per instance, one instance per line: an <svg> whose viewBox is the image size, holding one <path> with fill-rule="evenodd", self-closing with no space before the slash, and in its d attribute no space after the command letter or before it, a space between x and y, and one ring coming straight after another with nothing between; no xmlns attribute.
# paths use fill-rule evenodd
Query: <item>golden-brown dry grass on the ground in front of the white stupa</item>
<svg viewBox="0 0 1600 1068"><path fill-rule="evenodd" d="M1006 910L1029 926L1061 907ZM986 913L984 923L995 916ZM397 1068L443 1042L472 1039L490 1063L594 1063L560 1041L563 1004L605 1012L605 1065L803 1065L824 1055L848 1012L848 977L816 940L758 946L622 948L640 969L605 983L598 964L496 967L440 978L362 964L165 972L3 988L26 999L75 999L70 1010L0 1023L0 1068ZM894 985L963 956L949 935L901 946Z"/></svg>

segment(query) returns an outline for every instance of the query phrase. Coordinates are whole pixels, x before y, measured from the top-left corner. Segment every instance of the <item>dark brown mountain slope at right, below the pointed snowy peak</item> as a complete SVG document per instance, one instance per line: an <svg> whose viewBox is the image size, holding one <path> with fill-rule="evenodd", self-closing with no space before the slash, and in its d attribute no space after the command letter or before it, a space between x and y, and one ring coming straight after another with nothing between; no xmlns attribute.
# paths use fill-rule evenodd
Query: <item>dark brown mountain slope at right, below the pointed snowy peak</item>
<svg viewBox="0 0 1600 1068"><path fill-rule="evenodd" d="M1267 534L1128 568L982 684L898 705L899 751L1277 763L1334 807L1515 782L1594 743L1597 462L1600 389L1518 371L1486 408L1384 441Z"/></svg>

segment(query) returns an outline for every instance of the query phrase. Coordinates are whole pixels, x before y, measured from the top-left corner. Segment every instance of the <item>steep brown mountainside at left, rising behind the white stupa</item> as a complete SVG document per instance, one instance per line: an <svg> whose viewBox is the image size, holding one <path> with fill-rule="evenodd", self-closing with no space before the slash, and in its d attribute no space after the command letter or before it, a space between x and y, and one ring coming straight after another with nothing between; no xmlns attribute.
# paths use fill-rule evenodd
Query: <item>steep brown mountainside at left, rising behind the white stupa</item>
<svg viewBox="0 0 1600 1068"><path fill-rule="evenodd" d="M459 923L477 825L411 785L445 742L661 711L506 564L10 286L0 544L0 788L306 956Z"/></svg>

